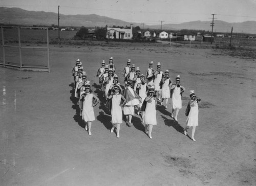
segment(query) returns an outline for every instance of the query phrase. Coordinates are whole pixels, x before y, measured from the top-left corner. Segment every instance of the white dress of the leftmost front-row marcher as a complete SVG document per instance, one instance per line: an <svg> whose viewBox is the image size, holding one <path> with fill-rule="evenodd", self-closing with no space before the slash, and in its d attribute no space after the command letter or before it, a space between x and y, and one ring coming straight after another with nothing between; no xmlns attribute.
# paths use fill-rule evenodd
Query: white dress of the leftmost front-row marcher
<svg viewBox="0 0 256 186"><path fill-rule="evenodd" d="M95 120L93 110L93 94L88 94L83 98L82 119L86 122Z"/></svg>

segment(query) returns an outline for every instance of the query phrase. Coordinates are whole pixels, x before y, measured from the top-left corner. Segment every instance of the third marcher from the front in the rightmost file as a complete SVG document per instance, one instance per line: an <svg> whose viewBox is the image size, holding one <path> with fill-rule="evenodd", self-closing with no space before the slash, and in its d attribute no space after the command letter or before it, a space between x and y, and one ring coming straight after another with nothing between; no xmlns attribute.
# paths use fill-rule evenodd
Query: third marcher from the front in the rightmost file
<svg viewBox="0 0 256 186"><path fill-rule="evenodd" d="M161 105L163 105L163 101L165 100L165 108L167 108L168 99L170 98L170 84L172 84L172 80L169 78L169 71L166 70L160 86L162 88Z"/></svg>

